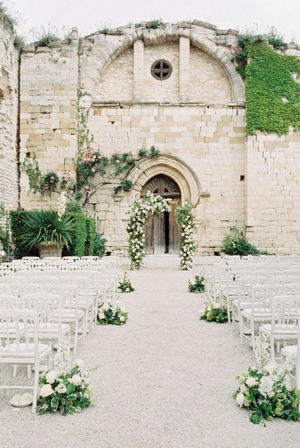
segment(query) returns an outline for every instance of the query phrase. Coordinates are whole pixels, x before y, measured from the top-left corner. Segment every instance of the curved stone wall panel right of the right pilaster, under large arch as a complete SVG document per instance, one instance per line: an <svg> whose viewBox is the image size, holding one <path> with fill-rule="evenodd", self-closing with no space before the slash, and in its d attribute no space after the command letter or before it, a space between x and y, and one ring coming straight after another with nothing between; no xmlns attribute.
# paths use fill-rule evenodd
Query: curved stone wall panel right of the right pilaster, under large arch
<svg viewBox="0 0 300 448"><path fill-rule="evenodd" d="M216 59L194 46L189 53L189 100L212 104L231 101L231 87Z"/></svg>

